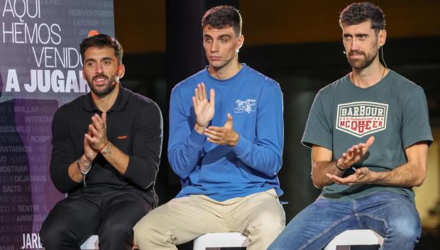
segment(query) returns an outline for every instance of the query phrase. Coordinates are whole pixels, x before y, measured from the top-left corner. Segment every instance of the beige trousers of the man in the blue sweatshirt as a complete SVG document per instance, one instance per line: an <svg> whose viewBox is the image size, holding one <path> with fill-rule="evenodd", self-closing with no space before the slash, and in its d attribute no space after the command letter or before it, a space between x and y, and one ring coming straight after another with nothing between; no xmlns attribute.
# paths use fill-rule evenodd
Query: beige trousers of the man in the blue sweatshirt
<svg viewBox="0 0 440 250"><path fill-rule="evenodd" d="M248 250L265 250L285 227L285 212L273 189L222 202L206 195L175 198L134 227L140 250L177 249L209 232L241 232Z"/></svg>

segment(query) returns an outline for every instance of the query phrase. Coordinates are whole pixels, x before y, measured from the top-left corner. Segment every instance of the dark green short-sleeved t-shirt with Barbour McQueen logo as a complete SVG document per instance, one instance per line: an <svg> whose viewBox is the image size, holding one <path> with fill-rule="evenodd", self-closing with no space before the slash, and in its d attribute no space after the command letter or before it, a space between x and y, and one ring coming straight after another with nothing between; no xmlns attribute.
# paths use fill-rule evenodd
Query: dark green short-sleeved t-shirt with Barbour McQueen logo
<svg viewBox="0 0 440 250"><path fill-rule="evenodd" d="M390 171L407 162L405 149L416 142L432 142L427 98L420 86L390 72L367 89L354 85L348 75L321 89L314 99L302 137L307 147L317 144L333 152L333 159L354 144L375 142L364 159L353 165L372 171ZM343 176L353 174L348 169ZM357 184L331 184L327 198L351 200L376 191L393 191L414 201L412 188Z"/></svg>

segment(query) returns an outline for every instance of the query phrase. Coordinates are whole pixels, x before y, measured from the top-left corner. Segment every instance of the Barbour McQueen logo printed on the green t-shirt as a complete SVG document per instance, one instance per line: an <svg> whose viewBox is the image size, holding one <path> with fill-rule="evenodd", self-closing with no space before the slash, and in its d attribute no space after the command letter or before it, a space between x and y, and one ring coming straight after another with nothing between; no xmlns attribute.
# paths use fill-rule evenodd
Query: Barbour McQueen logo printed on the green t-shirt
<svg viewBox="0 0 440 250"><path fill-rule="evenodd" d="M338 105L336 129L363 137L387 128L388 104L357 101Z"/></svg>

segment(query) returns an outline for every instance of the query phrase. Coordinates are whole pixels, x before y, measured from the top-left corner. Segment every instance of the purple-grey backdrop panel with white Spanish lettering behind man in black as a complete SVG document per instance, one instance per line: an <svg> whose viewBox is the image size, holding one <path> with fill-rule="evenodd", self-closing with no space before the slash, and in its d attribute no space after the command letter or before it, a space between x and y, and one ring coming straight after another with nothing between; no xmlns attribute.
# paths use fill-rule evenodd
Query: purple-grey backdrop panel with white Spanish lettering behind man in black
<svg viewBox="0 0 440 250"><path fill-rule="evenodd" d="M0 250L43 249L41 224L65 197L49 175L51 125L89 91L78 45L91 30L114 35L112 0L0 0Z"/></svg>

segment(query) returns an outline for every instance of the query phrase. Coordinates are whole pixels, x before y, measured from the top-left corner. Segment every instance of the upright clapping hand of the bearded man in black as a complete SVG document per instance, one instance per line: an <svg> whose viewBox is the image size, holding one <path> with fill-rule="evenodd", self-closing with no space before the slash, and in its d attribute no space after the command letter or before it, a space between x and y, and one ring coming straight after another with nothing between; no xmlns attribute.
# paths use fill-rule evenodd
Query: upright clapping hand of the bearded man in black
<svg viewBox="0 0 440 250"><path fill-rule="evenodd" d="M107 113L105 112L103 112L101 116L94 114L92 116L92 124L89 125L89 130L92 132L92 135L84 135L92 148L97 152L108 142L106 118Z"/></svg>

